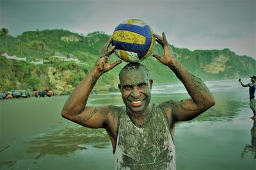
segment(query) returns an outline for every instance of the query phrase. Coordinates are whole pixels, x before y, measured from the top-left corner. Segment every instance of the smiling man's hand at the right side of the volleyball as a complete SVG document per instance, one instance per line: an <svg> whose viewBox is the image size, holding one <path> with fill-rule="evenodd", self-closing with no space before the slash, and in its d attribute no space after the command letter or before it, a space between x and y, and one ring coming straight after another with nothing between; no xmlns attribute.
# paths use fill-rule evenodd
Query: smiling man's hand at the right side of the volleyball
<svg viewBox="0 0 256 170"><path fill-rule="evenodd" d="M173 57L172 49L170 49L169 47L169 44L164 32L163 32L163 37L157 34L154 34L154 37L156 38L157 43L163 46L164 56L161 57L158 54L154 54L153 57L155 57L157 60L159 60L162 64L166 66L172 66L173 62L175 62L175 58Z"/></svg>

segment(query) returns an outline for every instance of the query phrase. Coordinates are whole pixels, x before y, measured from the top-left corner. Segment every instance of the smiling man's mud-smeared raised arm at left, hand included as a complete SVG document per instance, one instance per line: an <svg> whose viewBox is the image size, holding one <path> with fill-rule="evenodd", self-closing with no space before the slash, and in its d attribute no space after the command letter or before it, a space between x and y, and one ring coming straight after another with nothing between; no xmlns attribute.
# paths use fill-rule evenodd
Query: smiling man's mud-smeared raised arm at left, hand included
<svg viewBox="0 0 256 170"><path fill-rule="evenodd" d="M100 76L122 62L121 60L117 60L112 64L109 63L109 55L111 55L115 49L115 46L112 46L112 48L107 51L111 41L112 39L109 39L102 50L104 55L97 60L90 73L79 85L77 85L76 89L74 89L72 94L68 97L63 110L61 111L62 117L67 118L72 122L76 122L77 124L92 128L104 127L104 124L108 121L107 113L111 112L111 108L113 107L104 106L94 108L86 106L86 103L90 92Z"/></svg>

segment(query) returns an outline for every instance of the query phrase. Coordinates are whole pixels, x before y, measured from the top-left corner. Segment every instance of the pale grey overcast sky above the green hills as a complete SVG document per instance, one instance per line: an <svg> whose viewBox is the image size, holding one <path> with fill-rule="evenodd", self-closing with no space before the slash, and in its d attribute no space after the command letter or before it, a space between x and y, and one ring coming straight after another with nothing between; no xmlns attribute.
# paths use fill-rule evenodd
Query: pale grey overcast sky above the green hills
<svg viewBox="0 0 256 170"><path fill-rule="evenodd" d="M230 48L256 59L253 1L0 1L0 27L17 36L36 29L67 29L84 35L112 34L120 22L138 18L165 32L179 48Z"/></svg>

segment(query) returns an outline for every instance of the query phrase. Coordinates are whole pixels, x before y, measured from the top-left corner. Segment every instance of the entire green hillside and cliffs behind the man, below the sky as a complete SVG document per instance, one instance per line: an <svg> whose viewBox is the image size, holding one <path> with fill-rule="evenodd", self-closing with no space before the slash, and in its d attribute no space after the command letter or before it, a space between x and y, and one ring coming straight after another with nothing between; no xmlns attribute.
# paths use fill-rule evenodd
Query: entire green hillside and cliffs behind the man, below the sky
<svg viewBox="0 0 256 170"><path fill-rule="evenodd" d="M49 60L54 52L67 56L72 53L84 63L79 66L74 62L57 62L53 64L34 65L29 62L10 60L1 57L0 90L42 89L50 88L60 93L73 89L88 73L101 55L101 50L110 36L104 32L92 32L86 36L62 29L27 31L17 37L0 36L0 53L27 57L28 60ZM175 48L175 58L189 71L202 80L220 80L246 77L256 73L256 60L248 56L239 56L227 48L223 50L195 50ZM160 45L154 47L153 53L163 54ZM115 54L111 60L117 60ZM159 61L150 56L142 62L150 70L155 84L175 83L176 76ZM96 92L117 90L118 73L126 64L104 74L97 82Z"/></svg>

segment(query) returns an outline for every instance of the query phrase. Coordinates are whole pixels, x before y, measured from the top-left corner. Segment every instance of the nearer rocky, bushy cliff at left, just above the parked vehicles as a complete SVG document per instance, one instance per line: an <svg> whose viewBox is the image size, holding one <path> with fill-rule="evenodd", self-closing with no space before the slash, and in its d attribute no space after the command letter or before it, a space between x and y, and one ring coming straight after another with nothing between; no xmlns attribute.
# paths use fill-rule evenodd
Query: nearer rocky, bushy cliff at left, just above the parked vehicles
<svg viewBox="0 0 256 170"><path fill-rule="evenodd" d="M0 89L54 90L56 94L68 94L81 81L86 71L76 64L67 66L36 66L28 62L1 57Z"/></svg>

